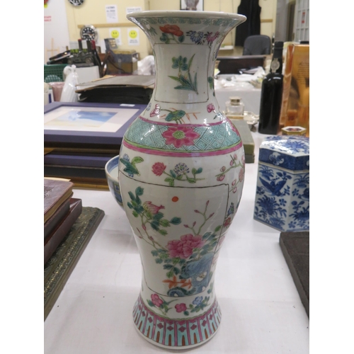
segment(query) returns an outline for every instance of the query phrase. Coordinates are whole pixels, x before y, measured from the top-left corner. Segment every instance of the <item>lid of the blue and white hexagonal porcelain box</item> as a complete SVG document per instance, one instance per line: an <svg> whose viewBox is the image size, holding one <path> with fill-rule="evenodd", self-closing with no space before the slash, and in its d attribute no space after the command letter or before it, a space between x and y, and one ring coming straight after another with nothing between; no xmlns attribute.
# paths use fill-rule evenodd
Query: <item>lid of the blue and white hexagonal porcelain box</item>
<svg viewBox="0 0 354 354"><path fill-rule="evenodd" d="M259 148L259 161L291 171L309 170L309 138L298 135L266 137Z"/></svg>

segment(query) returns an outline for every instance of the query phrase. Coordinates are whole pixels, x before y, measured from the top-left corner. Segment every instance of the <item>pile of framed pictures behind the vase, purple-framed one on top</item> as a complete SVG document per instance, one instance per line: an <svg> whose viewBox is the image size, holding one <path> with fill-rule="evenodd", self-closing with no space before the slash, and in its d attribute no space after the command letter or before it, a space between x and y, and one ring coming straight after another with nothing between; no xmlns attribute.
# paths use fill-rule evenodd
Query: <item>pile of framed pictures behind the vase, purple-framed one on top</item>
<svg viewBox="0 0 354 354"><path fill-rule="evenodd" d="M94 91L96 86L88 88ZM105 164L147 105L52 102L44 110L44 176L75 188L108 190Z"/></svg>

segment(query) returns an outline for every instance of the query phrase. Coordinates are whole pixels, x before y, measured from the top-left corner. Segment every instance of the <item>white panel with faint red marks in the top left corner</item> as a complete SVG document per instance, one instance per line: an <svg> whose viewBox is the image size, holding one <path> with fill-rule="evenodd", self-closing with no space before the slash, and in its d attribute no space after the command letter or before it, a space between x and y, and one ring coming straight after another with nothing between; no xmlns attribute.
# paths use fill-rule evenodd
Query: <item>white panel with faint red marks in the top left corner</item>
<svg viewBox="0 0 354 354"><path fill-rule="evenodd" d="M44 64L50 57L64 52L69 46L65 2L67 0L49 0L44 8ZM55 51L47 52L52 48Z"/></svg>

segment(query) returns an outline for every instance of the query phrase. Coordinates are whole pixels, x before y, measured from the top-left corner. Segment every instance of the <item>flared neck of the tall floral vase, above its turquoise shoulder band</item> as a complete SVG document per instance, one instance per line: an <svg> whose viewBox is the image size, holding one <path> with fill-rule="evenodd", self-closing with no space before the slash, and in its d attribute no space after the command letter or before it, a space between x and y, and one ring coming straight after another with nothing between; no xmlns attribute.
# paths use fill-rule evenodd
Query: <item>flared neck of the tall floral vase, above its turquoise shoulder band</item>
<svg viewBox="0 0 354 354"><path fill-rule="evenodd" d="M225 36L244 16L146 11L127 18L144 30L155 58L150 118L187 124L224 120L215 98L215 62Z"/></svg>

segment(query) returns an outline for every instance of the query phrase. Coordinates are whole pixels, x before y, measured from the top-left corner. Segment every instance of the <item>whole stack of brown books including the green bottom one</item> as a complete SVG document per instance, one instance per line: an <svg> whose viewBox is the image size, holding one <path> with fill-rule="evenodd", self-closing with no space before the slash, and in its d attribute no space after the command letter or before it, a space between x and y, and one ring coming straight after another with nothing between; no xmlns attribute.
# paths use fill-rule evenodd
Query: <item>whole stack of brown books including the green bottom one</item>
<svg viewBox="0 0 354 354"><path fill-rule="evenodd" d="M91 236L103 219L97 207L82 207L74 183L44 180L44 317L47 318Z"/></svg>

